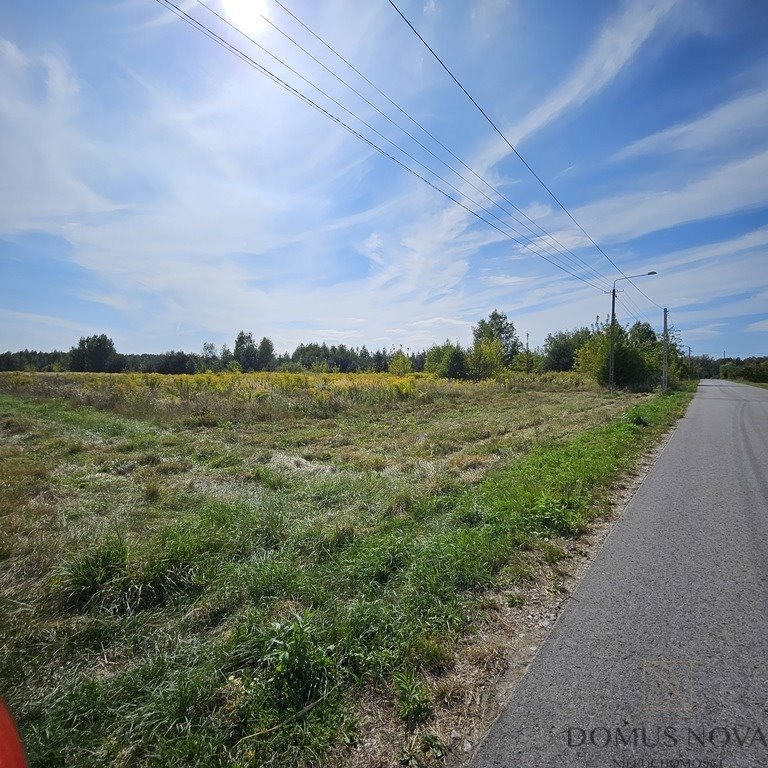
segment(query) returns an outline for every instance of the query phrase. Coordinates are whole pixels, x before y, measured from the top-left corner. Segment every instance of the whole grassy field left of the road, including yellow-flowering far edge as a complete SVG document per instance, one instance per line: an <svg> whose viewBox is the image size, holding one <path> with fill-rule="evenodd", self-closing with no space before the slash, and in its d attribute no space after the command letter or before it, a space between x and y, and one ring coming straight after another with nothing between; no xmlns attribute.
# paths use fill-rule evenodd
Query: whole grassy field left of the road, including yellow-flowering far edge
<svg viewBox="0 0 768 768"><path fill-rule="evenodd" d="M0 374L0 693L31 764L439 762L483 613L688 397Z"/></svg>

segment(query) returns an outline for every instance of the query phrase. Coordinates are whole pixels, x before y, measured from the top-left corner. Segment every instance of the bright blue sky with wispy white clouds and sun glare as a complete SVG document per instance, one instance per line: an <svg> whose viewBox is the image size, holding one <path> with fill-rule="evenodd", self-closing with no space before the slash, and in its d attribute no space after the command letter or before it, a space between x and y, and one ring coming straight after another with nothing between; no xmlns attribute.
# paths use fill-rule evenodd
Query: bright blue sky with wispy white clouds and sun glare
<svg viewBox="0 0 768 768"><path fill-rule="evenodd" d="M534 348L620 279L619 322L768 354L765 0L396 0L504 138L388 0L173 2L247 59L157 0L0 5L0 350L493 309Z"/></svg>

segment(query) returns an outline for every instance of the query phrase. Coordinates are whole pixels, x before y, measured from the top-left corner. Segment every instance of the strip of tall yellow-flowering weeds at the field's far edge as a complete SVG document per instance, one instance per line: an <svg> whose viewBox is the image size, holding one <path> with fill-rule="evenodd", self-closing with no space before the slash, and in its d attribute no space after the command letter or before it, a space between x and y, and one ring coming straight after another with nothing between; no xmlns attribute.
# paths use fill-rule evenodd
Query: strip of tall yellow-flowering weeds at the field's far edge
<svg viewBox="0 0 768 768"><path fill-rule="evenodd" d="M576 374L507 374L498 382L472 384L430 374L381 373L22 373L0 372L0 392L64 398L76 405L129 416L186 415L198 426L224 420L274 420L304 414L328 417L353 406L386 407L458 395L473 388L511 391L590 389ZM206 421L206 418L208 421Z"/></svg>

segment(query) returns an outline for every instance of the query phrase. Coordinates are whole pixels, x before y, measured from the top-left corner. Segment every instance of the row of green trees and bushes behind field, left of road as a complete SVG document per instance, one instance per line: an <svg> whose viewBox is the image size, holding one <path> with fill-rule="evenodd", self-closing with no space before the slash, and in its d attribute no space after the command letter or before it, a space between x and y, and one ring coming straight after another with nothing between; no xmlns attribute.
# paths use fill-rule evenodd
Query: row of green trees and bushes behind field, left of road
<svg viewBox="0 0 768 768"><path fill-rule="evenodd" d="M377 349L363 345L299 344L292 353L277 354L266 336L238 333L232 349L206 342L199 353L171 350L162 354L121 354L106 334L82 337L68 352L5 352L0 370L93 371L104 373L199 373L203 371L428 372L450 379L479 381L506 371L540 373L579 370L601 384L608 379L610 325L549 334L541 348L523 344L514 323L494 309L472 329L472 344L446 340L421 352ZM636 322L614 331L616 383L621 387L653 388L661 376L661 340L649 323ZM711 365L710 365L711 363ZM711 358L684 358L679 342L670 344L670 372L680 377L716 375ZM728 369L730 370L730 369Z"/></svg>

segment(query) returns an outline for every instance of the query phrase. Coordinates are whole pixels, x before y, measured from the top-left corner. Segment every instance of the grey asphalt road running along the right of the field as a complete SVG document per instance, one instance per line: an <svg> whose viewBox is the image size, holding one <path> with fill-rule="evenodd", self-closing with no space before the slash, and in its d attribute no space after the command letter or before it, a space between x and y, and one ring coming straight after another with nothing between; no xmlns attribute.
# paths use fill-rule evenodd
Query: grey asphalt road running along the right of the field
<svg viewBox="0 0 768 768"><path fill-rule="evenodd" d="M768 390L701 382L471 766L768 767Z"/></svg>

